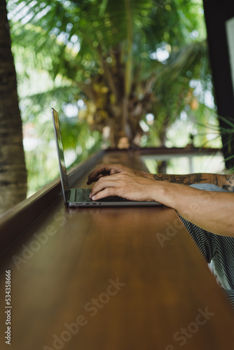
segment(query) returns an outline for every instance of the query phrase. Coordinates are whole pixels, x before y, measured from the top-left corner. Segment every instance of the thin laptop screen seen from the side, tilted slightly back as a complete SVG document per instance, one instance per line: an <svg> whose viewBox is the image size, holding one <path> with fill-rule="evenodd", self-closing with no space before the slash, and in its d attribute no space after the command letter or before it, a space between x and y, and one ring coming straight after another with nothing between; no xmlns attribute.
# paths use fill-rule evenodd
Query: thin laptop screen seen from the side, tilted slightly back
<svg viewBox="0 0 234 350"><path fill-rule="evenodd" d="M69 190L69 184L67 179L67 169L65 165L64 160L64 151L62 146L62 135L60 130L60 120L57 111L55 109L51 109L52 116L53 116L53 124L54 124L54 130L55 130L55 141L56 141L56 147L57 147L57 156L60 164L60 176L61 176L61 183L62 183L62 195L64 198L64 203L67 204L67 198L66 193Z"/></svg>

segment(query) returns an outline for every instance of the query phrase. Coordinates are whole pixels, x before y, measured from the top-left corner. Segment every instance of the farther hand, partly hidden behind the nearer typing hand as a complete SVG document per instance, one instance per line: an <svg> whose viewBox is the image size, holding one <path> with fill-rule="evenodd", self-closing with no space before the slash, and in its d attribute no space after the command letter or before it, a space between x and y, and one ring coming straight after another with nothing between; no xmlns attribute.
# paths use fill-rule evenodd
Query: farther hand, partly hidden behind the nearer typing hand
<svg viewBox="0 0 234 350"><path fill-rule="evenodd" d="M139 170L135 170L130 167L125 167L121 164L101 164L97 165L97 167L95 167L95 169L93 169L92 172L90 172L90 174L88 175L87 184L90 185L90 183L97 181L102 176L118 174L121 172L128 172L130 174L135 174L137 176L144 177L144 174L142 174L142 172L139 172Z"/></svg>

